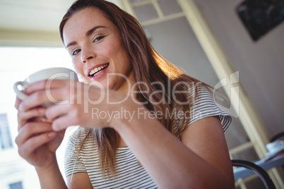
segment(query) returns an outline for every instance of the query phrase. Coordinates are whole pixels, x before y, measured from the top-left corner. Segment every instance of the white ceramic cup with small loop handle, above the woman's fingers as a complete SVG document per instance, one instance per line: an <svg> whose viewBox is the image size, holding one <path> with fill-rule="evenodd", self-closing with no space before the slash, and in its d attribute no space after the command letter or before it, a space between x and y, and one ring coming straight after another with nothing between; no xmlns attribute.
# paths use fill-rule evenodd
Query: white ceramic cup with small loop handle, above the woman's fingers
<svg viewBox="0 0 284 189"><path fill-rule="evenodd" d="M29 75L28 78L25 78L24 81L18 81L13 85L13 90L16 92L17 97L21 100L27 97L27 94L23 92L25 87L28 87L31 83L35 83L40 80L77 80L78 76L76 72L72 71L69 68L46 68L41 71L37 71ZM22 89L19 90L18 86Z"/></svg>

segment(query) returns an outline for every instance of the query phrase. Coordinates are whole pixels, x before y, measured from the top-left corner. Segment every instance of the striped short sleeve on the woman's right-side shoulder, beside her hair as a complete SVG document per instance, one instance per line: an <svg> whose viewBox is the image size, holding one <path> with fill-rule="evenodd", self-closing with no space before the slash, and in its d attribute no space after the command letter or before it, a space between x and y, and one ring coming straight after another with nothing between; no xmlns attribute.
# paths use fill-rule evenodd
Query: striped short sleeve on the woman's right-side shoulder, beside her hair
<svg viewBox="0 0 284 189"><path fill-rule="evenodd" d="M230 126L230 123L232 122L231 116L215 103L211 93L206 87L203 85L195 85L193 88L191 87L188 98L192 103L189 124L194 123L201 118L219 116L224 131L228 128L228 126Z"/></svg>

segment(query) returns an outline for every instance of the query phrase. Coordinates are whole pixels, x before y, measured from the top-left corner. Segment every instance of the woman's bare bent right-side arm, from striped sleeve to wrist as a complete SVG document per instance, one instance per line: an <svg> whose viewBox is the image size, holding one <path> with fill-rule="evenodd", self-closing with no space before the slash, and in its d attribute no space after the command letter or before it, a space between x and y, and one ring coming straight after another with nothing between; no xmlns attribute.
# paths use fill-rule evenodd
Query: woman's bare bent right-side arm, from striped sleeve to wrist
<svg viewBox="0 0 284 189"><path fill-rule="evenodd" d="M133 107L126 110L137 112ZM218 118L191 123L180 142L158 120L141 114L134 117L117 120L119 123L114 123L114 128L161 188L235 187Z"/></svg>

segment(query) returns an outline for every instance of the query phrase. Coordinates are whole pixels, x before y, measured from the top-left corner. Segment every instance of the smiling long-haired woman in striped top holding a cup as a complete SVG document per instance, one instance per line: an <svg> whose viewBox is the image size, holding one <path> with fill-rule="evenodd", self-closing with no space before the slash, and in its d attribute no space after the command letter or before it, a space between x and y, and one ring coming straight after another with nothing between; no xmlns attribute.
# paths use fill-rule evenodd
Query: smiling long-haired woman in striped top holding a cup
<svg viewBox="0 0 284 189"><path fill-rule="evenodd" d="M16 100L18 151L42 188L234 188L223 134L230 116L205 84L151 47L132 16L107 1L79 0L60 35L86 83L40 81ZM47 90L70 103L40 107ZM66 185L55 151L76 125Z"/></svg>

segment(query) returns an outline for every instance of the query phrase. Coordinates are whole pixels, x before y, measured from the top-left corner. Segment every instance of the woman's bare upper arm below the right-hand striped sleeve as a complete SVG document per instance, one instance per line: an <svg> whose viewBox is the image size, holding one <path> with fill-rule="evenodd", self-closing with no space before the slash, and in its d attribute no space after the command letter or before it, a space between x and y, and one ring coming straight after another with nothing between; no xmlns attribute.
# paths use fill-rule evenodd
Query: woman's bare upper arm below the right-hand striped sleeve
<svg viewBox="0 0 284 189"><path fill-rule="evenodd" d="M218 116L191 123L182 133L182 142L217 169L225 177L223 182L231 186L228 188L235 188L232 163Z"/></svg>

